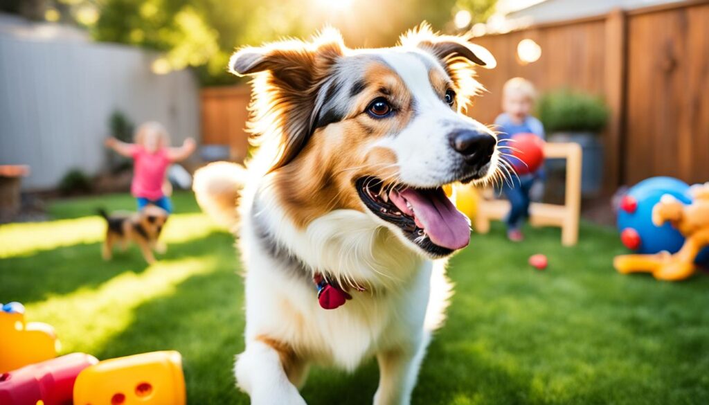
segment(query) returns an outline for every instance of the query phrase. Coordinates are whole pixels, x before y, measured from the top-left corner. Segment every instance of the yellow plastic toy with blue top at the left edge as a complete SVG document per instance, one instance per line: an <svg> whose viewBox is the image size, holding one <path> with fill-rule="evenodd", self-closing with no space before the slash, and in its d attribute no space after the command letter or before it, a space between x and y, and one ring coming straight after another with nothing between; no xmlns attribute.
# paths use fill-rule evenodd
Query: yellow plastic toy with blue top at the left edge
<svg viewBox="0 0 709 405"><path fill-rule="evenodd" d="M0 304L1 306L1 304ZM0 374L57 357L57 335L46 323L25 322L18 302L0 311Z"/></svg>

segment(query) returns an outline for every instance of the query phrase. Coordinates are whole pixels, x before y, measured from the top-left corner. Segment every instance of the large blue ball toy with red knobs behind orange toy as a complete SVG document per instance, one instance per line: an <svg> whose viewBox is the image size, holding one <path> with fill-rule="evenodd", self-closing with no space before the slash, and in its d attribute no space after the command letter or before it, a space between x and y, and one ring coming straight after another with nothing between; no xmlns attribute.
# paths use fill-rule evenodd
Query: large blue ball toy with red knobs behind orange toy
<svg viewBox="0 0 709 405"><path fill-rule="evenodd" d="M653 254L661 251L676 253L684 237L669 223L654 226L652 208L664 194L670 194L684 204L691 204L689 185L672 177L650 177L631 187L618 207L618 230L623 244L636 253ZM709 248L697 256L698 265L709 265Z"/></svg>

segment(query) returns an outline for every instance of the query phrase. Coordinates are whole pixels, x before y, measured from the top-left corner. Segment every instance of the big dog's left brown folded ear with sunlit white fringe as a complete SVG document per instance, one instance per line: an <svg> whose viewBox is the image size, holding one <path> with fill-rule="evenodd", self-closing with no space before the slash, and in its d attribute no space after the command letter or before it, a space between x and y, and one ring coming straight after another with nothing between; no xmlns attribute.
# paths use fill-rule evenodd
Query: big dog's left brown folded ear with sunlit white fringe
<svg viewBox="0 0 709 405"><path fill-rule="evenodd" d="M328 28L306 43L288 40L235 52L229 69L252 75L252 133L280 132L280 152L271 170L288 164L305 147L318 111L316 97L345 45Z"/></svg>

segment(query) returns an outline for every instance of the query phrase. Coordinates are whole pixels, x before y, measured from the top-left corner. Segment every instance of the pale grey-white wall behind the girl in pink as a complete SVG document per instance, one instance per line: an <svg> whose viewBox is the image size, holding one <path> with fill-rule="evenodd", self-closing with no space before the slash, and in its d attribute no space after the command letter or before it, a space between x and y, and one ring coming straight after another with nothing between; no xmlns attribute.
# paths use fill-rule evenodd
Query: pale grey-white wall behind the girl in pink
<svg viewBox="0 0 709 405"><path fill-rule="evenodd" d="M55 187L72 167L104 167L108 117L157 120L180 144L199 138L199 87L189 71L157 75L157 55L76 38L0 30L0 165L30 165L24 189Z"/></svg>

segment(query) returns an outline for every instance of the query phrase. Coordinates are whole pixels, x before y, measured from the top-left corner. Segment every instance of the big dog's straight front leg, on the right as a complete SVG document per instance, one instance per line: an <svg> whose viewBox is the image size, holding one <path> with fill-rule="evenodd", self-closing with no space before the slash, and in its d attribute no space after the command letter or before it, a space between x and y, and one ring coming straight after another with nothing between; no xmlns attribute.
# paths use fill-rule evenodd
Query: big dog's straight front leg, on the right
<svg viewBox="0 0 709 405"><path fill-rule="evenodd" d="M411 402L426 341L428 339L424 338L413 350L395 348L377 353L379 388L374 394L374 405L408 405Z"/></svg>

